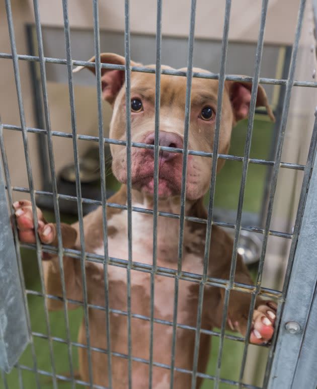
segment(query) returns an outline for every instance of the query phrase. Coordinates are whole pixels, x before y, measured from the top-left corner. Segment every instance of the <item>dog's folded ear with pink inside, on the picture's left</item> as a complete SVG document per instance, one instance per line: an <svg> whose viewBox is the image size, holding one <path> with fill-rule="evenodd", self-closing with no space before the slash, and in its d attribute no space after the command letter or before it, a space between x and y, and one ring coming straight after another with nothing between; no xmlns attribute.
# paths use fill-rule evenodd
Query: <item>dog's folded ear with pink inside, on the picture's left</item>
<svg viewBox="0 0 317 389"><path fill-rule="evenodd" d="M102 63L111 63L116 65L124 65L125 58L121 55L114 53L102 53L100 54L100 60ZM95 56L90 58L89 62L95 62ZM138 63L131 61L131 66L136 66ZM87 67L90 71L96 74L96 68L90 66L77 66L73 69L73 72L78 72ZM101 87L103 100L107 100L110 104L113 104L120 89L124 84L124 70L118 69L101 69Z"/></svg>

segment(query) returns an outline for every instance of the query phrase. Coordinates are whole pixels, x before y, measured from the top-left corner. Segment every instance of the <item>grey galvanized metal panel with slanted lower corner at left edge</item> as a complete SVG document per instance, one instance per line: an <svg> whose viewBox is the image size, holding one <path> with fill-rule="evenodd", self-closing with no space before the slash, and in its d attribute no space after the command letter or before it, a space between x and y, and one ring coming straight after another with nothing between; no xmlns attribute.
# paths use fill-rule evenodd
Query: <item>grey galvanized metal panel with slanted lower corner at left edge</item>
<svg viewBox="0 0 317 389"><path fill-rule="evenodd" d="M0 164L0 368L9 372L29 343L17 256Z"/></svg>

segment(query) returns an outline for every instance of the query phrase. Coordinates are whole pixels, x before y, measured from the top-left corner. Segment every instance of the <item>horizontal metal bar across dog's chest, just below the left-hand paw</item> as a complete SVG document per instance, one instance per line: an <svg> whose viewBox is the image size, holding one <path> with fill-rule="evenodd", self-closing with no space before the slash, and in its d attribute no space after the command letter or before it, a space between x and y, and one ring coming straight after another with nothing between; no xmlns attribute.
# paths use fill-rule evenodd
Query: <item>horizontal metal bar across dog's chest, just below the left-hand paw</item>
<svg viewBox="0 0 317 389"><path fill-rule="evenodd" d="M34 249L35 245L31 244L31 243L28 243L28 244L21 243L21 247L25 247L28 249ZM50 253L50 254L57 253L57 249L55 247L42 245L42 248L43 248L43 251L45 253ZM80 257L81 252L78 250L63 249L63 253L65 256L68 256L71 258L75 258L75 259L81 258ZM102 256L102 255L86 253L86 256L87 256L86 261L94 262L94 263L101 263L101 264L104 263L104 256ZM115 257L109 257L109 264L126 269L128 266L128 261L124 260L124 259L115 258ZM136 262L136 261L132 261L131 269L142 271L145 273L153 273L153 271L154 271L153 267L151 265L141 263L141 262ZM176 276L178 276L177 269L170 269L170 268L161 267L161 266L157 267L157 271L155 272L155 274L163 275L163 276L171 277L171 278L175 278ZM203 277L201 274L189 273L189 272L185 272L185 271L182 271L179 278L182 280L185 280L185 281L192 281L195 283L199 283L203 280ZM214 278L214 277L207 277L207 280L205 283L206 283L206 285L216 286L219 288L228 288L228 286L229 286L228 280ZM231 289L236 290L236 291L240 291L243 293L253 293L256 290L256 286L255 285L248 285L248 284L244 284L244 283L240 283L240 282L234 282ZM260 288L260 294L262 296L265 296L265 297L276 298L276 299L280 299L280 297L282 296L282 293L279 290L274 290L274 289L269 289L269 288L264 288L264 287Z"/></svg>

